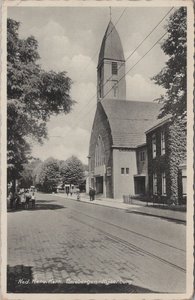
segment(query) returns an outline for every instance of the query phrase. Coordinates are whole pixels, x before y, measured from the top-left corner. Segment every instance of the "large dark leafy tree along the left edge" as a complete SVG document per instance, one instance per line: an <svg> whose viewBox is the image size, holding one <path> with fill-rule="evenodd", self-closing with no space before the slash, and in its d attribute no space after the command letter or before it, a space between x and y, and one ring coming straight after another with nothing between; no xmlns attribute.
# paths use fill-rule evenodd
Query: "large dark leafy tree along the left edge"
<svg viewBox="0 0 195 300"><path fill-rule="evenodd" d="M19 22L7 21L7 159L8 181L20 177L30 157L28 139L43 143L52 115L69 113L72 85L66 72L46 72L37 63L38 42L20 39Z"/></svg>

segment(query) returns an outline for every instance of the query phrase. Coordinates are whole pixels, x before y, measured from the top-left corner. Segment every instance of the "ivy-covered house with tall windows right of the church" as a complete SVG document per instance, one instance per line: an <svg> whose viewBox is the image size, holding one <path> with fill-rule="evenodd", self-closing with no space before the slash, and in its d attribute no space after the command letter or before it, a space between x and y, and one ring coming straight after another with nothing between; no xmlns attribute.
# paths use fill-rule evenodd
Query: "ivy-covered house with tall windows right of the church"
<svg viewBox="0 0 195 300"><path fill-rule="evenodd" d="M163 203L181 204L186 196L185 132L178 130L166 117L146 132L149 194Z"/></svg>

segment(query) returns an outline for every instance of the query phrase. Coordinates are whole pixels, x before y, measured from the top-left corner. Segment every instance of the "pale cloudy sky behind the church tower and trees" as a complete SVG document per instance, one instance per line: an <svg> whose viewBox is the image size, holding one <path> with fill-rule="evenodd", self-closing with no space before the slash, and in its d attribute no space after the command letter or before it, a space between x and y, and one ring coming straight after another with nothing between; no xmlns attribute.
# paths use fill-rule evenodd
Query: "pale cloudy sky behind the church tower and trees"
<svg viewBox="0 0 195 300"><path fill-rule="evenodd" d="M151 32L170 7L112 7L112 22L120 35L125 59ZM173 12L173 11L172 11ZM42 160L66 160L76 155L87 163L90 133L96 110L96 71L101 42L110 20L109 7L9 7L8 17L20 21L20 38L33 35L39 44L42 68L66 71L77 102L71 113L52 117L48 140L31 143L32 155ZM126 61L126 71L165 33L167 18ZM159 42L126 75L127 100L154 101L164 93L151 80L167 57Z"/></svg>

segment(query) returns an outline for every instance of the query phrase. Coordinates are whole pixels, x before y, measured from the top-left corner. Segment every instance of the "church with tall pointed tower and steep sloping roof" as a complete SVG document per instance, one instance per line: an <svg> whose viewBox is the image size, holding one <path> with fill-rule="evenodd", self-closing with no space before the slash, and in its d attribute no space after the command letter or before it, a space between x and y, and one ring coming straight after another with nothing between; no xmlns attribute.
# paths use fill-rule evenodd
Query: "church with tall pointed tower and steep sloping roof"
<svg viewBox="0 0 195 300"><path fill-rule="evenodd" d="M160 105L126 99L125 57L110 21L97 65L97 108L89 146L89 186L107 198L145 194L148 189L145 132Z"/></svg>

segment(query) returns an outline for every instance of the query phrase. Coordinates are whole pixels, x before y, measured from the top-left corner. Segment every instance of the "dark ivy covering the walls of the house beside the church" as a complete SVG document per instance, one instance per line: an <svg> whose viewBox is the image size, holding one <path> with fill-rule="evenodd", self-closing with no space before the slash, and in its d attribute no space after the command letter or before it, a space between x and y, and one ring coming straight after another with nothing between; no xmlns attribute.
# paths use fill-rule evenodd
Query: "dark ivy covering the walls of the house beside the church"
<svg viewBox="0 0 195 300"><path fill-rule="evenodd" d="M165 154L161 154L161 133L165 134ZM156 158L153 158L152 138L156 136ZM157 191L163 203L181 203L180 165L186 159L185 121L168 119L147 134L149 196L153 196L153 175L157 175ZM166 174L166 195L162 195L162 173ZM180 176L181 177L181 176ZM179 182L180 180L180 182Z"/></svg>

